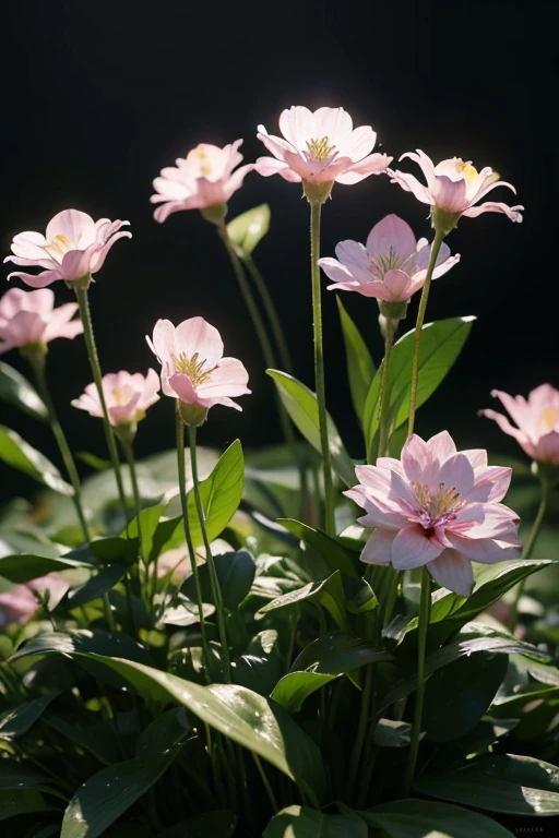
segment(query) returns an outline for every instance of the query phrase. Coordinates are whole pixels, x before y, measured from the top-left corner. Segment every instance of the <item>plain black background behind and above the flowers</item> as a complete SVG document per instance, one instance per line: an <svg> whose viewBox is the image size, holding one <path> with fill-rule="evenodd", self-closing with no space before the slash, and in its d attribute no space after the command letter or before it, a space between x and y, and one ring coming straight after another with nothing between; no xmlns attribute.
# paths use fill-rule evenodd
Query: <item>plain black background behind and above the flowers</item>
<svg viewBox="0 0 559 838"><path fill-rule="evenodd" d="M280 440L271 383L215 230L198 212L164 225L152 218L151 182L163 166L200 142L237 137L245 137L246 161L253 160L265 153L258 123L277 133L281 110L305 104L343 106L356 125L372 124L378 149L396 160L418 147L436 161L455 155L500 171L518 199L507 190L490 199L524 204L525 220L465 218L449 238L462 262L433 287L428 320L479 320L417 430L448 428L464 445L515 452L514 441L476 411L490 405L492 387L525 394L545 381L559 386L552 2L48 0L10 3L4 24L2 252L14 234L44 230L68 207L129 219L133 239L118 242L91 288L102 366L156 367L144 335L157 318L205 316L226 352L246 363L253 388L241 399L243 414L212 411L201 436L219 447L237 435L246 445ZM271 205L272 227L255 260L297 375L312 385L308 205L297 184L251 173L230 217L262 202ZM323 213L322 254L333 255L345 238L365 241L392 212L418 237L429 235L426 207L388 178L336 185ZM62 283L52 288L59 302L71 299ZM374 300L347 294L343 301L379 360ZM417 299L406 330L416 307ZM324 331L329 406L350 453L361 456L335 299L326 292ZM24 369L15 352L5 360ZM82 339L51 344L49 371L71 443L104 455L100 422L69 406L91 380ZM48 429L5 405L1 411L58 462ZM173 433L170 399L163 398L140 427L139 455L171 447ZM28 492L24 477L5 468L2 476L10 493Z"/></svg>

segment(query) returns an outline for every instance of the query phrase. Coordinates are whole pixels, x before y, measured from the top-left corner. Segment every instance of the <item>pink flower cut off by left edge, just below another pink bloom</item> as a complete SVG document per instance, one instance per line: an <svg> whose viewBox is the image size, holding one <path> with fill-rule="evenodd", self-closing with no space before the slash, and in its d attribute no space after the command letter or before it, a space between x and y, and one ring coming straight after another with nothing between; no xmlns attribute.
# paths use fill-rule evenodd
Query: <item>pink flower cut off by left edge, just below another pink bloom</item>
<svg viewBox="0 0 559 838"><path fill-rule="evenodd" d="M48 344L56 337L75 337L83 332L80 320L72 320L78 303L55 309L50 288L23 291L10 288L0 299L0 355L14 347Z"/></svg>

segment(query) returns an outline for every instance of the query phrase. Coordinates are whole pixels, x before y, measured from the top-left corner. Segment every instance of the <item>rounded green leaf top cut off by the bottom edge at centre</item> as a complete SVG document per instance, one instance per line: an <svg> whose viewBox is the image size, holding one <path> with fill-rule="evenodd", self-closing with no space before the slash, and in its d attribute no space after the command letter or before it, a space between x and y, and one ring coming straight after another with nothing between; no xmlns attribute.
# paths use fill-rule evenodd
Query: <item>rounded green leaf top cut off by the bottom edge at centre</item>
<svg viewBox="0 0 559 838"><path fill-rule="evenodd" d="M367 838L365 823L345 815L324 815L309 806L288 806L271 819L262 838Z"/></svg>

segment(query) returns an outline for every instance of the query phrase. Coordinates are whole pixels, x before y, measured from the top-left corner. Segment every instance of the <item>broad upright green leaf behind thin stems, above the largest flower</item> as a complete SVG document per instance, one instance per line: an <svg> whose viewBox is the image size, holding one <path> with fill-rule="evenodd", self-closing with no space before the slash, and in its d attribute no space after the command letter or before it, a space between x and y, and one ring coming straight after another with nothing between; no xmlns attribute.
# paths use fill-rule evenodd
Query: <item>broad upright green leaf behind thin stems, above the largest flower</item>
<svg viewBox="0 0 559 838"><path fill-rule="evenodd" d="M435 393L454 364L474 320L475 318L451 318L424 325L419 349L417 407L420 407ZM406 421L409 409L414 333L415 330L412 330L400 340L396 340L390 359L386 398L390 405L391 424L394 430ZM372 452L374 435L379 427L379 411L376 407L381 378L382 364L370 386L365 405L364 428L368 454Z"/></svg>

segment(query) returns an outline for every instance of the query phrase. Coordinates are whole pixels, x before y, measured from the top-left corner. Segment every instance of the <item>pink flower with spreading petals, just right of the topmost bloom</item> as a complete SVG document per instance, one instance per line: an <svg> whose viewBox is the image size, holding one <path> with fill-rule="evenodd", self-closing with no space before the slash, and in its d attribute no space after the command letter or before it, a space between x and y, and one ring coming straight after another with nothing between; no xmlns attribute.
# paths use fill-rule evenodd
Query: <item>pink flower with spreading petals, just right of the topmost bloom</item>
<svg viewBox="0 0 559 838"><path fill-rule="evenodd" d="M413 175L405 171L389 171L393 183L400 183L406 192L413 192L418 201L430 204L443 213L450 215L466 215L475 218L481 213L504 213L511 222L522 222L521 211L523 206L508 206L493 201L474 206L481 197L497 187L507 187L516 194L511 183L499 180L499 175L489 166L481 171L472 166L472 163L452 157L442 160L437 166L419 148L414 154L407 152L400 158L409 157L418 164L427 184L420 183Z"/></svg>

